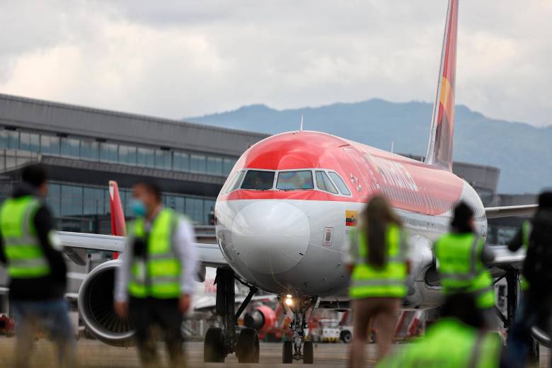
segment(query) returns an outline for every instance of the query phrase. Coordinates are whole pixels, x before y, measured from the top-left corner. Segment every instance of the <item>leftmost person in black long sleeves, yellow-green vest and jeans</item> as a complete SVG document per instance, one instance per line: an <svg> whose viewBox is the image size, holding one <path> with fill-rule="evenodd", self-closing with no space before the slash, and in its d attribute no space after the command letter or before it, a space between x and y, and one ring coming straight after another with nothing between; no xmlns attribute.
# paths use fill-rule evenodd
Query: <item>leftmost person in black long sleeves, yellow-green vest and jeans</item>
<svg viewBox="0 0 552 368"><path fill-rule="evenodd" d="M47 172L26 166L22 183L0 209L0 262L10 277L9 298L16 318L16 367L27 367L38 327L57 343L60 367L74 360L74 329L64 299L67 265L45 204Z"/></svg>

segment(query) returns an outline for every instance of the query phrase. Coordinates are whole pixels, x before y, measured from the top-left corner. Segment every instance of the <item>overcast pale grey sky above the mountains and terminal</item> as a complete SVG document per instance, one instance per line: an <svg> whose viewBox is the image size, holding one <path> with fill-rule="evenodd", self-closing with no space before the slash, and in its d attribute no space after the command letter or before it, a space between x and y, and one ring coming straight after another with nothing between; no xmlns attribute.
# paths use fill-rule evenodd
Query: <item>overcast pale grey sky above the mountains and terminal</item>
<svg viewBox="0 0 552 368"><path fill-rule="evenodd" d="M446 0L0 0L0 92L180 118L432 102ZM461 0L456 102L552 124L552 1Z"/></svg>

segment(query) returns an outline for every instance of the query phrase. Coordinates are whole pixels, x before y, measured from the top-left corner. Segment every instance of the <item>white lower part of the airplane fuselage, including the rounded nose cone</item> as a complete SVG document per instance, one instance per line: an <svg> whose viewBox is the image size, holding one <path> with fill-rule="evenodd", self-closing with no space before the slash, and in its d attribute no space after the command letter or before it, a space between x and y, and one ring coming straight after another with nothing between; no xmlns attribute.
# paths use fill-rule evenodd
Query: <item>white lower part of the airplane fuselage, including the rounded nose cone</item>
<svg viewBox="0 0 552 368"><path fill-rule="evenodd" d="M486 236L483 204L468 183L461 200L479 214L476 229ZM266 292L343 299L348 285L345 239L351 229L345 224L345 211L360 213L363 207L363 203L339 201L219 201L217 240L231 268ZM449 229L452 212L437 216L397 212L410 236L410 258L432 263L428 259L433 257L432 242ZM437 303L439 288L427 286L423 274L412 277L417 295L410 304Z"/></svg>

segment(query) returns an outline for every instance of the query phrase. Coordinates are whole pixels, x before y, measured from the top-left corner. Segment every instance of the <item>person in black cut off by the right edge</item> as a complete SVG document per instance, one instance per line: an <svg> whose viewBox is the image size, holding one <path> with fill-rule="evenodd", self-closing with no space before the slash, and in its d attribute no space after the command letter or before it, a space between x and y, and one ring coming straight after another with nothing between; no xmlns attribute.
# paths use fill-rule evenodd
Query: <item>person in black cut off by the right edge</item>
<svg viewBox="0 0 552 368"><path fill-rule="evenodd" d="M508 357L514 367L524 367L533 345L531 328L544 328L551 313L552 291L552 192L539 195L539 209L508 243L510 251L527 251L522 270L522 298L508 335ZM545 325L545 326L543 326Z"/></svg>

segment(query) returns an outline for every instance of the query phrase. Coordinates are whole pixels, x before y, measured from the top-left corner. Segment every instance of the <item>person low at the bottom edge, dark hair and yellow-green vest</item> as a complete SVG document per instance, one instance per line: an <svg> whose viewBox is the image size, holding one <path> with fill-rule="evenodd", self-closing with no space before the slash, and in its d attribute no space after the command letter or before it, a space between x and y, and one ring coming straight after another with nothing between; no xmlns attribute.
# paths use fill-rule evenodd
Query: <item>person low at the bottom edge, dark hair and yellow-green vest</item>
<svg viewBox="0 0 552 368"><path fill-rule="evenodd" d="M473 294L449 295L442 319L427 329L425 337L404 345L376 368L498 368L501 359L498 333L484 328L485 321Z"/></svg>

